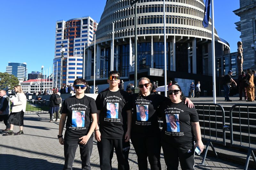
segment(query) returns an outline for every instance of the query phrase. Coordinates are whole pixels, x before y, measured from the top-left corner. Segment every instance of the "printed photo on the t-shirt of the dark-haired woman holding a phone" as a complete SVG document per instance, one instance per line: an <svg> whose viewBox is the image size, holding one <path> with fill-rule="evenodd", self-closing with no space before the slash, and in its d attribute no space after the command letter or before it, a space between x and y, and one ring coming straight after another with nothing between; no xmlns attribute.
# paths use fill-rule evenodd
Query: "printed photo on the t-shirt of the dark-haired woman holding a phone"
<svg viewBox="0 0 256 170"><path fill-rule="evenodd" d="M179 114L166 114L166 124L168 132L180 132Z"/></svg>

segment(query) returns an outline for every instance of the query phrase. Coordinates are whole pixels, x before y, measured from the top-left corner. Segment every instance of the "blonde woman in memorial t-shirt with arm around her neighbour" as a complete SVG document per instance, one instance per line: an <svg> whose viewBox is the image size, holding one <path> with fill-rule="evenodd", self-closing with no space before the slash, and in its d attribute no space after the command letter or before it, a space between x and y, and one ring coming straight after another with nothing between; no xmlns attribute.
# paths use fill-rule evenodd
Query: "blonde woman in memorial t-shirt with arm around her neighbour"
<svg viewBox="0 0 256 170"><path fill-rule="evenodd" d="M150 93L152 84L146 77L140 78L139 88L139 94L131 95L133 105L131 140L138 157L139 169L147 170L149 161L150 168L158 170L161 169L161 142L156 109L165 100L170 99ZM190 107L194 107L189 99L186 102Z"/></svg>

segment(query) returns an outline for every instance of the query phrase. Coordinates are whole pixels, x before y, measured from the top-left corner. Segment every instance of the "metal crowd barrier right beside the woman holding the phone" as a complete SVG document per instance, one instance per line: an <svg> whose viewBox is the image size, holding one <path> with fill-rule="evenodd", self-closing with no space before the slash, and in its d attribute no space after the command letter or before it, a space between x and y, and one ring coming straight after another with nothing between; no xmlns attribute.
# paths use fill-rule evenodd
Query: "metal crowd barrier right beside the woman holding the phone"
<svg viewBox="0 0 256 170"><path fill-rule="evenodd" d="M199 116L202 140L207 141L204 158L202 160L202 165L206 166L204 161L209 146L211 146L214 154L218 156L212 143L226 145L225 131L228 130L229 126L225 124L225 111L219 104L201 103L194 105Z"/></svg>

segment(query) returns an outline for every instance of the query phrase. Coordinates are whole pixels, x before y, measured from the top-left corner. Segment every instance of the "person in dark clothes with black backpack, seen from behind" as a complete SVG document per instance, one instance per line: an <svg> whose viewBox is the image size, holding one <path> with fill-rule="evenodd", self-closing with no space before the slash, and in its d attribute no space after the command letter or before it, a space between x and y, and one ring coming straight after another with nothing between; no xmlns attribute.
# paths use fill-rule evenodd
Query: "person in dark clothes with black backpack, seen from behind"
<svg viewBox="0 0 256 170"><path fill-rule="evenodd" d="M58 121L58 115L59 115L59 108L60 108L60 104L56 103L57 99L60 99L60 95L57 94L57 89L53 89L53 94L50 97L50 122L52 122L52 114L55 112L56 113L56 120L55 122Z"/></svg>

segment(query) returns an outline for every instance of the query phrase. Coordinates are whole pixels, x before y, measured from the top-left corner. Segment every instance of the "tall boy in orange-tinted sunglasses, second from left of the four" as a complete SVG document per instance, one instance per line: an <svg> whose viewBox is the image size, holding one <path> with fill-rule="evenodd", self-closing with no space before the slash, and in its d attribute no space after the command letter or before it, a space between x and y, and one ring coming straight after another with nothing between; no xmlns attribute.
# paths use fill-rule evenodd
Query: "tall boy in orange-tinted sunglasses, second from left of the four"
<svg viewBox="0 0 256 170"><path fill-rule="evenodd" d="M129 170L130 133L132 107L130 95L118 88L118 71L110 71L109 88L100 92L96 99L98 124L95 139L98 141L100 169L111 170L114 147L118 161L118 170ZM111 114L113 113L113 114Z"/></svg>

